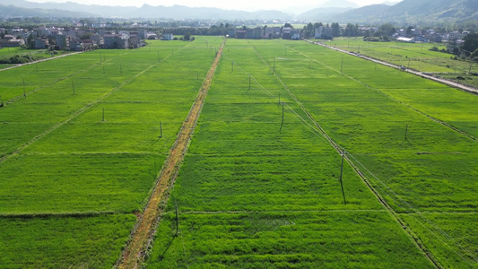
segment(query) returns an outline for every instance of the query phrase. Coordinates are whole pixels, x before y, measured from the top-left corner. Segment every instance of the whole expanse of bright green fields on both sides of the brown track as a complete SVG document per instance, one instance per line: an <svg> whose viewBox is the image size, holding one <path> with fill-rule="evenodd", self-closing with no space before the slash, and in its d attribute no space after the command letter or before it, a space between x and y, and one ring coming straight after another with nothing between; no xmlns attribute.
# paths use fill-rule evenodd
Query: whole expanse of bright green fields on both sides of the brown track
<svg viewBox="0 0 478 269"><path fill-rule="evenodd" d="M0 267L117 262L222 41L0 73ZM228 39L144 266L476 266L477 112L332 49Z"/></svg>

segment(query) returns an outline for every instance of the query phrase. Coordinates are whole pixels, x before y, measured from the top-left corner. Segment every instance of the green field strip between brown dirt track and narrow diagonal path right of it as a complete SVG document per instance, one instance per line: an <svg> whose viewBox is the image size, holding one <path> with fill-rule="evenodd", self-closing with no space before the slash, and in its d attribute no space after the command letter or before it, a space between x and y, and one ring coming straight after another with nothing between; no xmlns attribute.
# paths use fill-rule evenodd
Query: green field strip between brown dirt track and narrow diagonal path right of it
<svg viewBox="0 0 478 269"><path fill-rule="evenodd" d="M147 267L430 267L348 165L343 204L340 155L247 42L228 40Z"/></svg>

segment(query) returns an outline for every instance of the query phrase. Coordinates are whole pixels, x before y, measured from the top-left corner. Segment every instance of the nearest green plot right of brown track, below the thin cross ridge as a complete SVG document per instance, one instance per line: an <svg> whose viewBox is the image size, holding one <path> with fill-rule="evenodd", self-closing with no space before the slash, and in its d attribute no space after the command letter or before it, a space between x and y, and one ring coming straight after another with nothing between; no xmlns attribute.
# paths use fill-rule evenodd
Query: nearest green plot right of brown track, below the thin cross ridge
<svg viewBox="0 0 478 269"><path fill-rule="evenodd" d="M147 268L432 268L384 212L180 213L175 230L163 215Z"/></svg>

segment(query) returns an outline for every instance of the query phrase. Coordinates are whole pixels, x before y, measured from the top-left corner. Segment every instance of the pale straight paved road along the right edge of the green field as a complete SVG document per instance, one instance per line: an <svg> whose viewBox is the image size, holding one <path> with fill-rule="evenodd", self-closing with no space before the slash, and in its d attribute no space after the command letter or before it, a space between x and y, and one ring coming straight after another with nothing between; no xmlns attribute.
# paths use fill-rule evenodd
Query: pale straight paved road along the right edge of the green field
<svg viewBox="0 0 478 269"><path fill-rule="evenodd" d="M322 47L331 48L331 49L346 53L346 54L351 55L351 56L358 56L362 59L366 59L366 60L372 61L372 62L380 64L380 65L386 65L386 66L389 66L389 67L392 67L392 68L403 70L402 67L399 66L399 65L390 64L390 63L380 61L380 60L375 59L375 58L371 58L369 56L363 56L361 54L356 54L356 53L353 53L353 52L350 52L350 51L343 50L341 48L326 46L325 44L322 44L320 42L314 42L314 41L311 41L311 40L306 40L306 41L308 41L309 43L317 44L317 45L322 46ZM459 84L459 83L456 83L456 82L450 82L448 80L441 79L441 78L438 78L438 77L434 77L430 74L423 74L422 72L414 71L412 69L405 69L404 71L406 71L408 73L411 73L411 74L416 74L418 76L421 76L422 78L426 78L426 79L429 79L429 80L432 80L432 81L435 81L435 82L440 82L442 84L446 84L450 87L454 87L454 88L457 88L457 89L460 89L460 90L463 90L463 91L469 91L469 92L478 94L478 89L475 89L473 87L465 86L465 85L462 85L462 84Z"/></svg>

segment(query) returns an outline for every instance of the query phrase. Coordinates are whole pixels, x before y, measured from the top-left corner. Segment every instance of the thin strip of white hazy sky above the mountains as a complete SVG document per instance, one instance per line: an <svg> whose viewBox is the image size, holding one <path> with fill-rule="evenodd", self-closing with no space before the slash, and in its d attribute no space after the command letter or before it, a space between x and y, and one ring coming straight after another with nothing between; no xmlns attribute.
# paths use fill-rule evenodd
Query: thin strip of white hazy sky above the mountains
<svg viewBox="0 0 478 269"><path fill-rule="evenodd" d="M30 2L76 2L80 4L102 4L102 5L129 5L141 6L143 4L151 5L174 5L181 4L187 6L206 6L219 7L222 9L235 10L284 10L290 7L318 7L325 4L327 0L293 0L293 1L260 1L260 0L241 0L241 1L219 1L219 0L30 0ZM368 5L379 4L387 0L349 0L355 4ZM340 2L340 1L338 1ZM392 1L392 2L396 2Z"/></svg>

